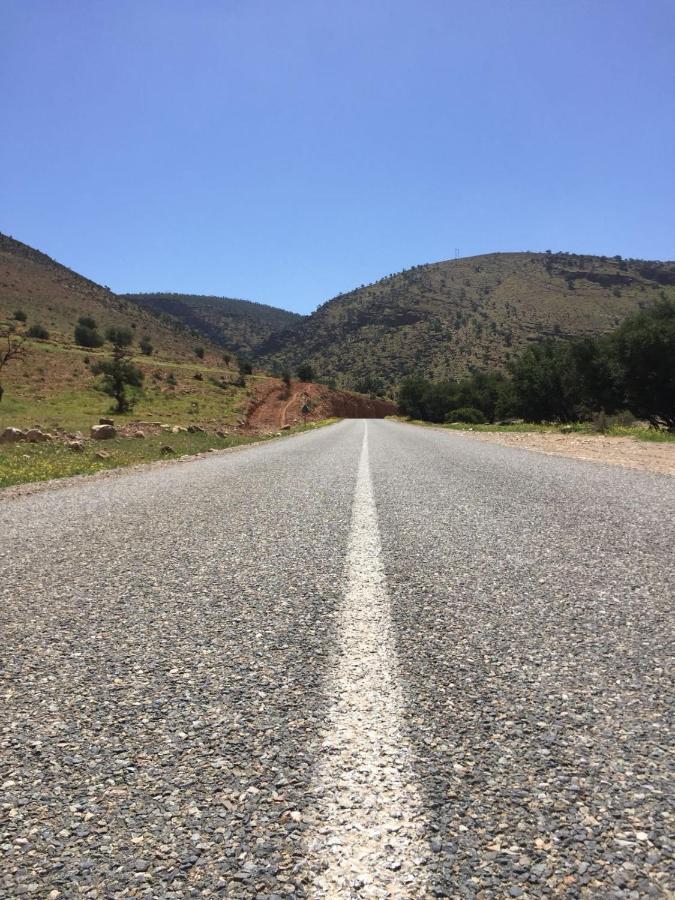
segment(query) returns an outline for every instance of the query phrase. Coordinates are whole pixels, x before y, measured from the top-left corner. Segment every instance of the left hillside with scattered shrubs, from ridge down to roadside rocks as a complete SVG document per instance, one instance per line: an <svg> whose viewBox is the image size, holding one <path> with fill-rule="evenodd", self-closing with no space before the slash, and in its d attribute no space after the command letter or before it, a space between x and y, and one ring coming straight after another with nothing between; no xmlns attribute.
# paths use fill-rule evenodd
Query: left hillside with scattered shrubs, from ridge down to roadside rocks
<svg viewBox="0 0 675 900"><path fill-rule="evenodd" d="M78 345L75 328L83 317L95 321L101 346ZM0 332L11 328L25 339L24 352L0 372L0 427L39 423L73 430L107 414L111 398L98 389L101 379L92 369L110 358L111 344L103 339L113 327L131 333L133 364L143 374L142 392L122 422L237 422L247 389L221 347L0 235Z"/></svg>

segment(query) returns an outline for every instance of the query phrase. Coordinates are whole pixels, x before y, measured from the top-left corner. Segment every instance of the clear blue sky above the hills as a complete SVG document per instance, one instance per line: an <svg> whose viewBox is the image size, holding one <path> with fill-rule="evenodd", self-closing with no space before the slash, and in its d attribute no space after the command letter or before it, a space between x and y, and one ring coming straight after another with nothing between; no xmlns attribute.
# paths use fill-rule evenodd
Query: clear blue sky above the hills
<svg viewBox="0 0 675 900"><path fill-rule="evenodd" d="M675 257L672 0L0 0L0 230L307 312L494 250Z"/></svg>

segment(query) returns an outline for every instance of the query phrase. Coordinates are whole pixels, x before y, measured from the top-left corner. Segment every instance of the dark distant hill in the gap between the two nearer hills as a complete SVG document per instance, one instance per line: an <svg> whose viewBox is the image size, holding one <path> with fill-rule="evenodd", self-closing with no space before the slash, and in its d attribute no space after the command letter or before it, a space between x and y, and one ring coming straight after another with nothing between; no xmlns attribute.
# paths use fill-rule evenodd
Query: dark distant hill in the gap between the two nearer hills
<svg viewBox="0 0 675 900"><path fill-rule="evenodd" d="M199 294L122 294L143 309L173 316L189 328L243 356L254 356L261 344L302 319L297 313L229 297Z"/></svg>

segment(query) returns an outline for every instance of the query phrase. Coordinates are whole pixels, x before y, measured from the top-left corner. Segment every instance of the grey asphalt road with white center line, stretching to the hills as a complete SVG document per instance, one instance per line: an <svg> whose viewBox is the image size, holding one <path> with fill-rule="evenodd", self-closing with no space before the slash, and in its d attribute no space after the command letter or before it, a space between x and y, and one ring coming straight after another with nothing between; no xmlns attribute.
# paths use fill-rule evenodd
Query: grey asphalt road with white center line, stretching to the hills
<svg viewBox="0 0 675 900"><path fill-rule="evenodd" d="M382 421L0 500L0 896L672 896L674 511Z"/></svg>

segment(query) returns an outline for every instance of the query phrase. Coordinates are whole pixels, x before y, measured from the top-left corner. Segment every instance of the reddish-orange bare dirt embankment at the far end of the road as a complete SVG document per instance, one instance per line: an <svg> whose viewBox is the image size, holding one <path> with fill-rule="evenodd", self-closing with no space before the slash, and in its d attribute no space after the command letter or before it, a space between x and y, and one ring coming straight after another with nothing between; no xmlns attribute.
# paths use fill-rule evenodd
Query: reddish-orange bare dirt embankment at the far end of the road
<svg viewBox="0 0 675 900"><path fill-rule="evenodd" d="M373 400L349 391L331 391L323 384L294 381L288 388L278 378L270 378L258 388L246 414L246 429L256 432L278 431L303 421L339 417L345 419L383 419L395 415L396 405L389 400Z"/></svg>

